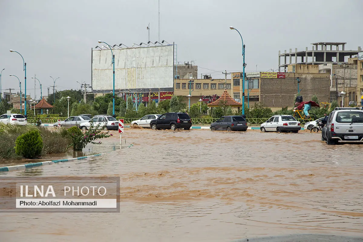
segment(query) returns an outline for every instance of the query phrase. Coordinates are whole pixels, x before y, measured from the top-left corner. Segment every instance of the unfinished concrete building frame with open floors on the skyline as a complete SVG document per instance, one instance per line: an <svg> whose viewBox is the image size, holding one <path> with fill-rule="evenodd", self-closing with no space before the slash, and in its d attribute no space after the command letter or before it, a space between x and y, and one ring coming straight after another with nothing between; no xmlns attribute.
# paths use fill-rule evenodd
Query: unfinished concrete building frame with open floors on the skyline
<svg viewBox="0 0 363 242"><path fill-rule="evenodd" d="M283 68L282 71L286 72L288 65L291 65L293 63L305 65L321 65L328 63L347 64L347 59L357 55L358 52L361 51L361 48L360 46L358 46L358 50L346 50L346 44L346 42L317 42L312 44L313 46L311 50L308 50L308 48L306 47L304 51L298 51L297 48L295 48L295 52L291 52L290 49L288 53L285 50L285 52L281 54L281 51L279 51L279 71L281 71L281 69ZM283 64L281 64L281 57L284 58ZM289 63L286 62L286 58L289 58Z"/></svg>

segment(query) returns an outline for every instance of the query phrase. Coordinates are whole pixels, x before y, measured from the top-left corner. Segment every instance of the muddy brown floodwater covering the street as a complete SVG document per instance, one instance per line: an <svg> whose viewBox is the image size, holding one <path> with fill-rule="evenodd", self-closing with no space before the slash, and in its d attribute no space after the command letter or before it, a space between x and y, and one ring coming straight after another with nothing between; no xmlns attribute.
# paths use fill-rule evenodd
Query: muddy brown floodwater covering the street
<svg viewBox="0 0 363 242"><path fill-rule="evenodd" d="M1 241L222 241L363 233L363 145L321 134L126 128L106 155L7 176L119 176L120 213L2 213Z"/></svg>

